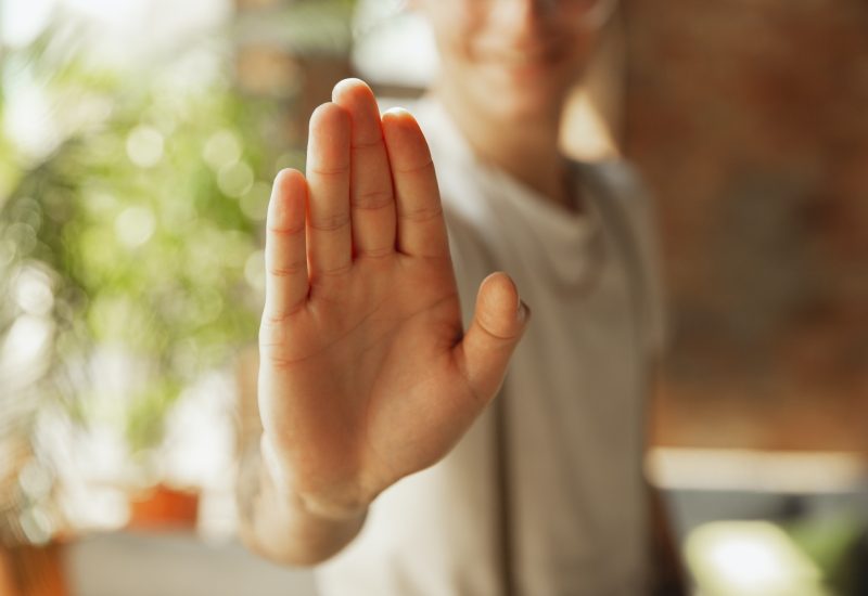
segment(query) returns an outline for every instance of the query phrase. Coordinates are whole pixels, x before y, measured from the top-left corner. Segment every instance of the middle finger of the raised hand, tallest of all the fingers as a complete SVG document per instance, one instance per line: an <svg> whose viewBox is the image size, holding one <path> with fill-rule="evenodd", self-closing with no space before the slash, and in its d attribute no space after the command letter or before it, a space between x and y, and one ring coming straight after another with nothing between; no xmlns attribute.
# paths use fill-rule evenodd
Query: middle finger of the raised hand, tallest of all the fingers
<svg viewBox="0 0 868 596"><path fill-rule="evenodd" d="M353 248L361 257L391 255L395 250L395 198L376 100L358 79L339 82L332 100L352 120Z"/></svg>

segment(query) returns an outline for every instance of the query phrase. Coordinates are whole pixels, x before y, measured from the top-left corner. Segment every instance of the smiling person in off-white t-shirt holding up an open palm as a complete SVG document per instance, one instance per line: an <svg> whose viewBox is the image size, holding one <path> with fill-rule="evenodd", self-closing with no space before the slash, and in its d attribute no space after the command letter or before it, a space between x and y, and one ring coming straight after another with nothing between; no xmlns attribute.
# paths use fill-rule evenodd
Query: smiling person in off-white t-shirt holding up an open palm
<svg viewBox="0 0 868 596"><path fill-rule="evenodd" d="M431 99L341 81L276 179L241 532L324 596L678 591L641 474L650 207L558 143L611 4L417 0Z"/></svg>

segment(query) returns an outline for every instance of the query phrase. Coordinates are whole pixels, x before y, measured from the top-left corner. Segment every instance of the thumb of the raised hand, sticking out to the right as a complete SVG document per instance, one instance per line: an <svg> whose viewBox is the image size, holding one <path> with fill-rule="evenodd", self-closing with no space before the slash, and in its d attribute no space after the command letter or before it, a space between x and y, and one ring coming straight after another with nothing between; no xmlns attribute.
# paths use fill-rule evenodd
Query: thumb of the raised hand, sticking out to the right
<svg viewBox="0 0 868 596"><path fill-rule="evenodd" d="M456 357L474 394L494 398L531 311L506 273L492 273L480 285L473 322L456 347Z"/></svg>

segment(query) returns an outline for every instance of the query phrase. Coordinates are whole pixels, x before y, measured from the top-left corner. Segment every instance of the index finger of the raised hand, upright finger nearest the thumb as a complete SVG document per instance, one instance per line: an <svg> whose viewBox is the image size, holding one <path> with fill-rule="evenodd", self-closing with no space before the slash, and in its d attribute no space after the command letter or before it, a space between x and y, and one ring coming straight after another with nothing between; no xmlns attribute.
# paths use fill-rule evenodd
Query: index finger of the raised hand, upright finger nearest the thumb
<svg viewBox="0 0 868 596"><path fill-rule="evenodd" d="M392 164L398 250L419 257L447 257L449 244L437 177L419 125L408 112L390 109L383 115L383 135Z"/></svg>

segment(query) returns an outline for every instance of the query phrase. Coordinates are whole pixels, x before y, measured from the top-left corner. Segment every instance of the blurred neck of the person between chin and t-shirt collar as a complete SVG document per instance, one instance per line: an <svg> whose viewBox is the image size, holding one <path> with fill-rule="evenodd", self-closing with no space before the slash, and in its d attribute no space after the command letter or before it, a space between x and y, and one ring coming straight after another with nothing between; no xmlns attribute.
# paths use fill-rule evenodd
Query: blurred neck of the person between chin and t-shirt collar
<svg viewBox="0 0 868 596"><path fill-rule="evenodd" d="M437 95L482 160L502 169L546 199L574 208L569 165L559 145L560 108L505 121L494 111L468 109L472 102L455 96L455 92L447 91L450 88L455 89L441 86Z"/></svg>

